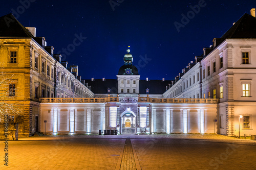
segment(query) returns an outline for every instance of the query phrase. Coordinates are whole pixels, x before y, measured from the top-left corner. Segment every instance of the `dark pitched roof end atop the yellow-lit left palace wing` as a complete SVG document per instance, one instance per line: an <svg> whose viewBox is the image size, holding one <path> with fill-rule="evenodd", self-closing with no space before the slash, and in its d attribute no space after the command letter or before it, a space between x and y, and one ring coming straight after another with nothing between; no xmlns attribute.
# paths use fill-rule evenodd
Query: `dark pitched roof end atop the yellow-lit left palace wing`
<svg viewBox="0 0 256 170"><path fill-rule="evenodd" d="M0 17L0 37L33 37L12 13Z"/></svg>

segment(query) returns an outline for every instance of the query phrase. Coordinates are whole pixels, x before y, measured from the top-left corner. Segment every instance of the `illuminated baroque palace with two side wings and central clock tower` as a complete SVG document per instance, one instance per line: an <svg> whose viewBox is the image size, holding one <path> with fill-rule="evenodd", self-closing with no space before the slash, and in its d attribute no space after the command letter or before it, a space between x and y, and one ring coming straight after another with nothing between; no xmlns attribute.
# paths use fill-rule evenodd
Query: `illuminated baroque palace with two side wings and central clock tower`
<svg viewBox="0 0 256 170"><path fill-rule="evenodd" d="M9 20L7 20L9 19ZM173 81L140 80L130 50L117 79L81 80L35 28L0 18L1 70L23 101L19 135L219 133L256 134L256 19L244 14ZM13 88L15 87L15 88ZM239 121L241 123L239 128Z"/></svg>

